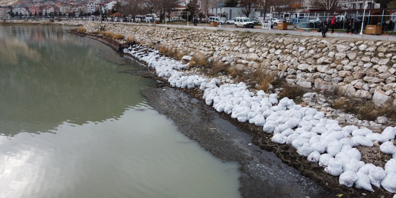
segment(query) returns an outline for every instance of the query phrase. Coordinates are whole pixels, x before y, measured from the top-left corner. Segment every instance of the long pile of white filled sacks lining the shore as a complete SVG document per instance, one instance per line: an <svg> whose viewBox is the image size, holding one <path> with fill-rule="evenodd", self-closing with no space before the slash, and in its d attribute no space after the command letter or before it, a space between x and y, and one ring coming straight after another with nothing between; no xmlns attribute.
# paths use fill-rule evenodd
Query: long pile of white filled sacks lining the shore
<svg viewBox="0 0 396 198"><path fill-rule="evenodd" d="M209 81L198 75L185 76L179 70L187 68L188 63L151 50L147 52L145 46L139 46L124 49L124 52L145 61L159 77L168 77L174 87L200 86L207 105L231 114L239 122L263 127L264 132L274 134L273 142L292 145L308 161L317 162L330 175L339 176L340 184L370 191L374 191L371 186L374 185L396 193L396 147L390 141L395 139L396 127L389 126L382 133L356 126L341 128L338 121L325 118L325 112L296 105L287 97L278 101L276 94L268 95L263 90L250 92L243 82L220 85L217 78ZM353 148L358 145L372 147L374 141L382 143L381 152L392 155L384 168L360 161L359 150Z"/></svg>

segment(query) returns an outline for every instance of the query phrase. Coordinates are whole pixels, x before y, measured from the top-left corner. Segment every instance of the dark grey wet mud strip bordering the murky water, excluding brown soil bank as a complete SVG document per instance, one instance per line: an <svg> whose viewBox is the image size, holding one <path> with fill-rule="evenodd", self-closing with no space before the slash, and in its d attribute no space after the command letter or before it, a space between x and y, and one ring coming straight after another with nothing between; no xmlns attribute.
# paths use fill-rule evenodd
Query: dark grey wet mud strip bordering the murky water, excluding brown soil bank
<svg viewBox="0 0 396 198"><path fill-rule="evenodd" d="M175 122L187 137L214 156L240 164L242 197L334 197L303 177L272 152L251 144L251 137L187 93L163 87L141 91L150 105Z"/></svg>

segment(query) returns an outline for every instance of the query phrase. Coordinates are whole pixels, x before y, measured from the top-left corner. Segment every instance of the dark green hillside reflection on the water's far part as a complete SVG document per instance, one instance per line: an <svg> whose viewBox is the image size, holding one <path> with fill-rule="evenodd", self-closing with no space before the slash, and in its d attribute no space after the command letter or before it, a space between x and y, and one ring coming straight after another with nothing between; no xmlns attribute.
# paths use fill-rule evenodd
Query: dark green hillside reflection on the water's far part
<svg viewBox="0 0 396 198"><path fill-rule="evenodd" d="M6 46L0 48L0 131L6 135L45 132L65 120L118 118L143 100L136 90L151 81L117 73L140 66L104 61L97 41L63 27L1 26L0 44Z"/></svg>

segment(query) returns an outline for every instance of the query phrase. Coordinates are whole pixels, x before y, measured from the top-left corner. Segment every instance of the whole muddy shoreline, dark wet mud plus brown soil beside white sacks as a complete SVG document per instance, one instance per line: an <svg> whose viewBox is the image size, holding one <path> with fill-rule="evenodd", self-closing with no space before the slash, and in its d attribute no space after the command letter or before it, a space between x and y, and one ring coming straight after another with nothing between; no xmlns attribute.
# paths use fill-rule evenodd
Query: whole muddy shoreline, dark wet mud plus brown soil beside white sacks
<svg viewBox="0 0 396 198"><path fill-rule="evenodd" d="M99 40L114 50L119 45L118 42L109 38L71 30L68 32ZM131 73L133 74L133 72ZM157 78L155 75L152 78L163 80ZM161 84L161 86L167 85L168 82ZM342 197L351 198L386 198L392 196L390 192L383 188L373 187L375 192L369 192L367 190L339 185L338 177L327 174L324 168L318 166L318 164L308 162L306 157L299 156L295 148L291 147L291 145L273 143L270 139L272 135L264 133L261 127L240 123L230 118L228 114L213 111L213 109L203 103L203 93L198 88L183 89L183 91L169 87L166 90L154 88L142 91L142 93L147 97L154 109L173 120L187 137L197 141L202 147L218 158L236 161L240 164L240 171L242 172L240 192L243 197L335 197L337 194L343 194ZM174 100L169 98L173 98ZM227 120L227 122L223 120ZM219 125L219 123L221 124ZM228 126L227 123L236 126L236 128L231 130L232 127ZM224 125L227 125L228 128L225 129ZM243 132L231 132L234 130ZM245 136L241 137L240 135L243 134ZM239 144L237 140L240 140ZM254 145L248 145L250 142ZM257 148L248 152L247 150L250 147ZM271 155L275 156L275 158L268 157ZM276 162L276 160L282 160L288 166ZM252 162L255 164L252 164ZM270 162L274 162L275 164L271 164ZM252 168L253 166L257 166L257 164L262 164L263 168ZM290 176L293 175L292 173L286 176L282 171L277 172L279 169L271 170L271 166L285 166L280 169L284 170L288 168L287 171L289 172L296 171L295 169L297 169L299 173L310 179L301 177L298 171L293 173L297 175L295 177ZM269 177L265 177L268 174ZM289 181L290 179L291 181Z"/></svg>

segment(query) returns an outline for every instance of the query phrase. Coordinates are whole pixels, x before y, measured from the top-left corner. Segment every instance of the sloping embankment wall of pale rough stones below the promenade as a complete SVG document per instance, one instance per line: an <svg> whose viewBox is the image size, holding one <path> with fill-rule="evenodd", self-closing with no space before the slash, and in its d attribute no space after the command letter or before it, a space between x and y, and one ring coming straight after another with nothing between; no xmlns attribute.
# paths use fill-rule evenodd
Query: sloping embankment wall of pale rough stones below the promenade
<svg viewBox="0 0 396 198"><path fill-rule="evenodd" d="M187 55L251 71L276 72L289 84L372 99L396 106L396 42L340 40L253 32L86 23L138 41L164 44Z"/></svg>

